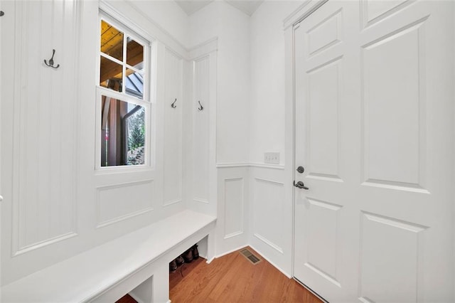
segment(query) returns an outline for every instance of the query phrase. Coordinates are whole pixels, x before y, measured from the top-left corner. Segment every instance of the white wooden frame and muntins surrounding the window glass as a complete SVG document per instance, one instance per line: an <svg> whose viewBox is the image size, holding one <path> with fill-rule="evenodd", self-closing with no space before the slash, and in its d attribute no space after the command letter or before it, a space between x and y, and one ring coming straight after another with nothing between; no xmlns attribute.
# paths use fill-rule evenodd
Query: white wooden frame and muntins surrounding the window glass
<svg viewBox="0 0 455 303"><path fill-rule="evenodd" d="M117 28L117 30L122 31L123 33L123 58L122 62L117 58L111 57L106 53L102 53L100 49L100 37L101 37L101 23L105 21L110 25ZM127 22L122 18L113 17L107 14L102 9L99 10L98 14L98 23L97 23L97 70L96 70L96 83L95 83L95 90L96 90L96 119L95 119L95 171L99 174L113 172L113 171L141 171L144 169L153 169L154 167L154 158L152 158L152 146L153 143L153 136L152 131L154 129L154 125L152 125L151 117L152 115L152 105L154 105L154 99L152 96L152 90L156 87L153 85L156 78L152 78L154 70L156 69L155 65L152 64L152 57L154 57L154 52L156 51L154 48L154 43L151 39L144 38L141 36L135 29L135 26L131 22ZM134 68L132 65L127 64L127 38L132 38L134 41L139 43L144 48L144 61L143 61L143 70L142 73L144 77L143 82L143 96L142 98L136 97L134 95L127 94L126 91L126 73L127 69L132 69L134 71L138 71L137 68ZM109 89L107 87L102 87L100 85L100 65L101 65L101 57L107 58L112 60L115 63L122 65L122 92L117 92L115 90ZM102 96L111 97L113 99L128 102L133 105L140 105L144 107L145 115L144 115L144 124L145 124L145 159L144 164L136 164L136 165L115 165L115 166L101 166L101 151L102 151L102 144L101 144L101 135L102 135ZM152 129L153 127L153 129Z"/></svg>

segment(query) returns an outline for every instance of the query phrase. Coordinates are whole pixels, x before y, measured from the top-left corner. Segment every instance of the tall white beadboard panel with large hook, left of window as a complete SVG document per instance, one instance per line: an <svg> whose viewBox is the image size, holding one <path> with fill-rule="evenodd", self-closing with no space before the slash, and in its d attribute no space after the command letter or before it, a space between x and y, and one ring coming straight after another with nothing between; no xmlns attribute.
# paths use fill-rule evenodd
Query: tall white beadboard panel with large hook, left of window
<svg viewBox="0 0 455 303"><path fill-rule="evenodd" d="M13 255L76 235L75 70L81 9L74 1L16 2ZM53 49L57 69L43 62Z"/></svg>

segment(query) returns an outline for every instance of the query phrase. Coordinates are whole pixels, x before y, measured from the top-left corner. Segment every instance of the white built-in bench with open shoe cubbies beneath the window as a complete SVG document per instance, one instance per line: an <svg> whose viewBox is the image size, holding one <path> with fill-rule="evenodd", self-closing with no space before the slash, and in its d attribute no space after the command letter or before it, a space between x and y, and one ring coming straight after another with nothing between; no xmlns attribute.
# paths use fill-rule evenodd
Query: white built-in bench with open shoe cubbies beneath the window
<svg viewBox="0 0 455 303"><path fill-rule="evenodd" d="M216 218L182 211L1 288L1 302L168 302L168 262L207 237Z"/></svg>

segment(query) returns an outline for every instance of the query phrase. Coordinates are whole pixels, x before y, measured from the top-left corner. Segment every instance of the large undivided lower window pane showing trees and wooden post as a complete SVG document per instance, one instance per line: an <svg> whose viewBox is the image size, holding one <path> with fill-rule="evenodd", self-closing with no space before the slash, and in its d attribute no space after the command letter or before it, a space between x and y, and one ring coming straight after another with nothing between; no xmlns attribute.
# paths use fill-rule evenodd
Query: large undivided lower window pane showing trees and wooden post
<svg viewBox="0 0 455 303"><path fill-rule="evenodd" d="M145 108L102 96L101 166L145 163Z"/></svg>

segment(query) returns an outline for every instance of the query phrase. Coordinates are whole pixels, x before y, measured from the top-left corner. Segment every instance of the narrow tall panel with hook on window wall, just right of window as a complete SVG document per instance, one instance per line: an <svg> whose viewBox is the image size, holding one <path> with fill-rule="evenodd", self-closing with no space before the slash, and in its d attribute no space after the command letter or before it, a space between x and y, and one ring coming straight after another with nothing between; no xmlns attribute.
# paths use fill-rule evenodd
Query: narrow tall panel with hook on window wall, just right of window
<svg viewBox="0 0 455 303"><path fill-rule="evenodd" d="M183 60L166 49L164 95L164 201L182 201ZM175 102L175 103L174 103ZM175 107L171 107L171 105Z"/></svg>

